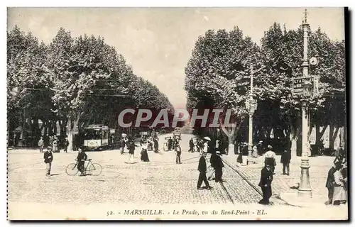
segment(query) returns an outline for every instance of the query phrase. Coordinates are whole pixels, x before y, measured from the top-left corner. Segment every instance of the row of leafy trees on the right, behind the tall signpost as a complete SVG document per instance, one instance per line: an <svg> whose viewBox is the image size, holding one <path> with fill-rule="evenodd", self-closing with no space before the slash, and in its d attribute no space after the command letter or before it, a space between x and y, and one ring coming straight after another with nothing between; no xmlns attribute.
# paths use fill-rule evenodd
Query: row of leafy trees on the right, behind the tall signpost
<svg viewBox="0 0 355 227"><path fill-rule="evenodd" d="M200 36L185 68L187 109L196 106L232 109L238 126L222 125L222 131L228 135L229 143L237 136L239 141L245 141L248 128L245 102L253 73L253 97L258 100L253 138L269 142L273 131L274 137L290 148L302 133L301 103L292 95L292 77L302 76L303 31L301 27L288 31L274 23L264 34L260 46L244 37L239 28L229 32L210 30ZM337 128L346 124L344 40L330 40L320 28L311 31L309 56L317 57L319 62L310 67L310 74L320 77L320 91L307 100L310 126L316 128L317 143L330 126L332 147Z"/></svg>

